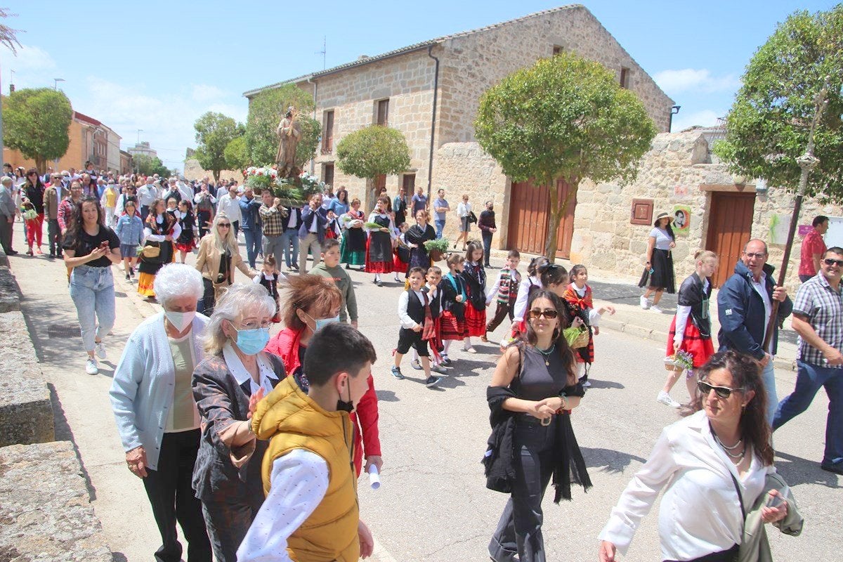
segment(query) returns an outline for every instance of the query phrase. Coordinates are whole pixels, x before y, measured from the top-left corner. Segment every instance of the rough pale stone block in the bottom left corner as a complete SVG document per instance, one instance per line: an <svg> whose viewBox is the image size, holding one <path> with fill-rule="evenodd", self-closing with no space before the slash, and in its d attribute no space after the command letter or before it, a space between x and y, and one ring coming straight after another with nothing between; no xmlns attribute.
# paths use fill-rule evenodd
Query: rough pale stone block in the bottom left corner
<svg viewBox="0 0 843 562"><path fill-rule="evenodd" d="M0 559L111 562L67 441L0 448Z"/></svg>

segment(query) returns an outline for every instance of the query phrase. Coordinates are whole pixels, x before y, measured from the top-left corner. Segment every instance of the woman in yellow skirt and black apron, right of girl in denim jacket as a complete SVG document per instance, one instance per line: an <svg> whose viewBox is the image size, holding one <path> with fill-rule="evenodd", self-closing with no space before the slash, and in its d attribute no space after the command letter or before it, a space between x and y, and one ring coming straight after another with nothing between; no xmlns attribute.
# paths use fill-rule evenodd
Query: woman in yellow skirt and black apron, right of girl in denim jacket
<svg viewBox="0 0 843 562"><path fill-rule="evenodd" d="M179 222L169 214L163 199L156 199L149 206L149 214L143 222L143 251L141 265L137 270L137 292L150 299L155 298L153 283L158 270L175 260L173 240L179 238L181 227ZM157 248L148 250L147 248ZM154 255L153 255L154 254Z"/></svg>

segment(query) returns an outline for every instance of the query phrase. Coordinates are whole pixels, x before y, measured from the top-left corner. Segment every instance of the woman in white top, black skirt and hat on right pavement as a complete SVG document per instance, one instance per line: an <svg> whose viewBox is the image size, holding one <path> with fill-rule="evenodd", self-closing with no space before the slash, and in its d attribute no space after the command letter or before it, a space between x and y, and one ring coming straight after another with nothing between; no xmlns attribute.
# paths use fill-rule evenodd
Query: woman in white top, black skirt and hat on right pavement
<svg viewBox="0 0 843 562"><path fill-rule="evenodd" d="M644 265L644 275L638 286L647 286L647 291L641 297L641 308L649 308L654 313L662 313L658 308L658 301L662 293L667 291L671 295L676 292L676 276L674 275L674 257L671 250L676 247L676 236L670 222L673 217L668 213L659 213L656 222L652 223L652 230L647 237L647 264ZM655 293L650 301L650 295Z"/></svg>

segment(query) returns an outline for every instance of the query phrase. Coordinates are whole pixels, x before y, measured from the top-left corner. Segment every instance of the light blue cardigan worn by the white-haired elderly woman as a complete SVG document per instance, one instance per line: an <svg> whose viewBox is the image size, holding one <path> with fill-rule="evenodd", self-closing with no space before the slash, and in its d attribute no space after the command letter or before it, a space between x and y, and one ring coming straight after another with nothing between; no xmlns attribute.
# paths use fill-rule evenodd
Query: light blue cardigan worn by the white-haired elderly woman
<svg viewBox="0 0 843 562"><path fill-rule="evenodd" d="M207 322L207 316L199 313L193 319L196 365L203 358L201 339ZM153 470L158 468L174 387L175 365L164 331L164 313L158 313L144 320L129 336L109 391L123 449L129 452L143 446Z"/></svg>

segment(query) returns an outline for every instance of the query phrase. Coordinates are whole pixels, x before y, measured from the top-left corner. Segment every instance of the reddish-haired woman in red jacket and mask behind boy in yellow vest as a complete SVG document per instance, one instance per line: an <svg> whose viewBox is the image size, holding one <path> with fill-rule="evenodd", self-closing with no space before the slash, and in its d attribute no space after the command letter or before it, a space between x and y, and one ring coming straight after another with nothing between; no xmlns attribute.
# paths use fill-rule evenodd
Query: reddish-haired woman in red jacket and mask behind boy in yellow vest
<svg viewBox="0 0 843 562"><path fill-rule="evenodd" d="M287 277L287 299L281 310L287 326L273 337L266 349L281 357L287 376L293 376L298 386L307 392L310 384L303 372L304 353L317 329L331 322L339 322L342 293L325 277ZM378 396L374 393L374 380L368 377L368 391L352 412L354 424L354 468L360 475L363 453L366 471L370 466L380 467L380 437L378 434ZM361 438L362 432L362 438ZM362 447L361 447L362 443Z"/></svg>

